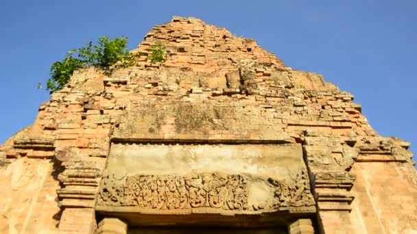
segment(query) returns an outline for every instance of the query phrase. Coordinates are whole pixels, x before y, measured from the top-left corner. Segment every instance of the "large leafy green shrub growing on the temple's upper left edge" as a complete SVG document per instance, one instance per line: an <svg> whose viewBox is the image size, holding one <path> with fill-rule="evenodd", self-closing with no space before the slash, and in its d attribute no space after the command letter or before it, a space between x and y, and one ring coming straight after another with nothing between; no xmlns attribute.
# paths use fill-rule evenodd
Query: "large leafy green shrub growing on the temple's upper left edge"
<svg viewBox="0 0 417 234"><path fill-rule="evenodd" d="M134 59L128 51L127 45L128 38L121 37L110 40L108 36L104 36L99 38L98 45L88 42L86 47L69 51L64 60L52 64L47 90L51 92L60 90L68 83L75 70L85 66L106 68L117 62L120 62L123 67L133 66Z"/></svg>

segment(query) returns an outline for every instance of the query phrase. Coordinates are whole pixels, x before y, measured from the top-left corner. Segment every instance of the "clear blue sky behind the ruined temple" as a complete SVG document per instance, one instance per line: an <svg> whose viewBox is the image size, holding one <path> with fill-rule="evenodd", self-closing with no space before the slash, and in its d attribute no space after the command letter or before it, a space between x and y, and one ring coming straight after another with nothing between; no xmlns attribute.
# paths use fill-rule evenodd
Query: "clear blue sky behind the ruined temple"
<svg viewBox="0 0 417 234"><path fill-rule="evenodd" d="M417 148L417 1L0 1L0 144L49 99L49 67L108 35L134 49L154 25L194 16L254 38L287 66L355 95L381 135Z"/></svg>

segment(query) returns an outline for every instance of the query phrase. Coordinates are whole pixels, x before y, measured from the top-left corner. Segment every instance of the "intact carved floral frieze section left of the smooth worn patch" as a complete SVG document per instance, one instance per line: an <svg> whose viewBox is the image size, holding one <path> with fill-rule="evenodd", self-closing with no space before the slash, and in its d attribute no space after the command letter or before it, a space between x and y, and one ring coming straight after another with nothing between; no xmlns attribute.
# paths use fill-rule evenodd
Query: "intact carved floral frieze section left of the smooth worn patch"
<svg viewBox="0 0 417 234"><path fill-rule="evenodd" d="M191 174L181 176L135 175L101 182L99 205L150 209L213 207L246 209L246 181L240 175Z"/></svg>

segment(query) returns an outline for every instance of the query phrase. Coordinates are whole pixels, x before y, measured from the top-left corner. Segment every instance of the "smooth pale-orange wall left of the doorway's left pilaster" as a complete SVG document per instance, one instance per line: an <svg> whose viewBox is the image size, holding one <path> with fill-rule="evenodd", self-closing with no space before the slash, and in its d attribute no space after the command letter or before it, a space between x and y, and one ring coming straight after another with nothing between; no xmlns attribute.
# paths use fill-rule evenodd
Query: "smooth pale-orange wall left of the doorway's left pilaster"
<svg viewBox="0 0 417 234"><path fill-rule="evenodd" d="M2 168L1 233L58 233L58 181L49 160L21 157Z"/></svg>

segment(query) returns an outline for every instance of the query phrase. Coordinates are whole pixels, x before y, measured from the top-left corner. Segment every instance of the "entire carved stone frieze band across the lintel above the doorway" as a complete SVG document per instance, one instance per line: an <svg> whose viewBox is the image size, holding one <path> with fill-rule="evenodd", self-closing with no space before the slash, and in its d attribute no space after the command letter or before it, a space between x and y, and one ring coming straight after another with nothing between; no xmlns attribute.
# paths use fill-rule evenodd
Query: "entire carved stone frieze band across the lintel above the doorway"
<svg viewBox="0 0 417 234"><path fill-rule="evenodd" d="M98 207L137 207L147 210L205 207L218 209L219 212L311 207L315 211L305 171L298 174L291 185L274 179L218 172L187 176L136 174L121 179L111 174L102 179L99 190Z"/></svg>

